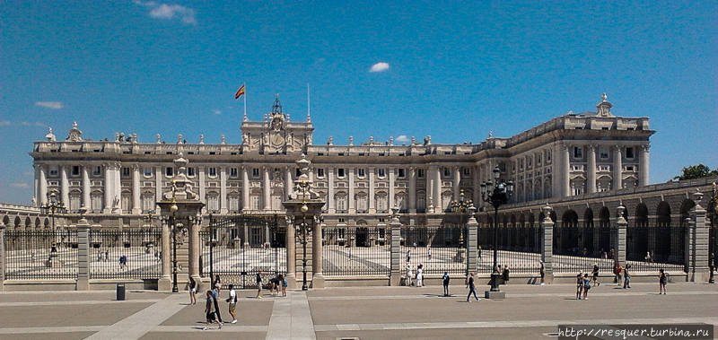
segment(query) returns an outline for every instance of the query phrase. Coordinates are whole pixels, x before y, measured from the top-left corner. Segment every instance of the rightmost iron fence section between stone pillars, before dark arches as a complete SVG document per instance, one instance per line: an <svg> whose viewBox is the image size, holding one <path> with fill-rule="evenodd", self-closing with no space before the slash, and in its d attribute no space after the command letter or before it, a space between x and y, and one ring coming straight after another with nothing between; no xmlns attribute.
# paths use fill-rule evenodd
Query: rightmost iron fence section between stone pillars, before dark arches
<svg viewBox="0 0 718 340"><path fill-rule="evenodd" d="M687 227L627 227L626 263L634 272L685 271L687 232Z"/></svg>

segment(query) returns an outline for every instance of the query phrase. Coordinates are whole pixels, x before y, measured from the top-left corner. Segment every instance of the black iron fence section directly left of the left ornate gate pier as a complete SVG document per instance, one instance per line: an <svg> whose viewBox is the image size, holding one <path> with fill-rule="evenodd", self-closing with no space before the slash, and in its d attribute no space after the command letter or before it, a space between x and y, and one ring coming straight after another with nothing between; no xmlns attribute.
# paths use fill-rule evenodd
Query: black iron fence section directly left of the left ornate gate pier
<svg viewBox="0 0 718 340"><path fill-rule="evenodd" d="M157 279L162 275L162 231L91 230L91 279Z"/></svg>

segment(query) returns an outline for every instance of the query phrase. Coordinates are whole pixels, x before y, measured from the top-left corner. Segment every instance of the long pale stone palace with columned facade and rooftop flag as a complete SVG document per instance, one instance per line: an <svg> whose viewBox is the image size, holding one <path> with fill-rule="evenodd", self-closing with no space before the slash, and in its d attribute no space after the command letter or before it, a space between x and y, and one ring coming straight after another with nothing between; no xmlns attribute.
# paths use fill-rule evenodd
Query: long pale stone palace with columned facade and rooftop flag
<svg viewBox="0 0 718 340"><path fill-rule="evenodd" d="M349 137L341 145L329 137L315 144L311 117L291 121L279 100L263 121L244 117L238 144L224 136L205 144L202 135L197 144L182 135L140 143L121 133L92 141L75 123L64 140L50 130L35 142L33 202L40 206L54 193L70 213L85 206L93 221L137 225L147 212L159 212L155 203L171 189L180 157L188 160L187 177L205 214L273 215L284 214L282 202L298 176L295 161L305 154L328 226L380 225L393 206L407 224L442 221L461 199L480 208L480 184L493 180L495 168L513 181L513 203L647 185L649 119L614 116L602 98L597 112L569 112L512 137L468 144L433 144L431 136L402 144Z"/></svg>

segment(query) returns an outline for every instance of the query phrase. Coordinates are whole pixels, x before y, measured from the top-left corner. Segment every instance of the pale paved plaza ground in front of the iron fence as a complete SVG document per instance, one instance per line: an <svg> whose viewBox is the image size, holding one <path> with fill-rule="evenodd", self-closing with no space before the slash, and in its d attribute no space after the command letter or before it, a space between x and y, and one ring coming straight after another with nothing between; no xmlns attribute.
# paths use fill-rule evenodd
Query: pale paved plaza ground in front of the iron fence
<svg viewBox="0 0 718 340"><path fill-rule="evenodd" d="M486 287L478 287L483 292ZM718 285L604 284L589 300L573 284L503 286L507 299L467 303L463 286L333 288L256 299L240 291L240 321L203 331L204 304L188 294L0 292L0 339L556 339L558 324L718 325ZM265 291L267 292L267 291ZM223 291L223 297L226 292ZM229 314L222 302L222 316Z"/></svg>

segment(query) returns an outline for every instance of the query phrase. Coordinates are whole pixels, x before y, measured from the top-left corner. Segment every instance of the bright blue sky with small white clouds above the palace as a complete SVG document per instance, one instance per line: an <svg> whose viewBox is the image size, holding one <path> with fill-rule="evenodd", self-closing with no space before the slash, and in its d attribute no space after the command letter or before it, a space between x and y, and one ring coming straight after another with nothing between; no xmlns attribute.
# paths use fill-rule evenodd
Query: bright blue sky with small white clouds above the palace
<svg viewBox="0 0 718 340"><path fill-rule="evenodd" d="M651 180L718 166L718 4L5 1L0 202L30 204L32 143L136 133L239 143L275 93L314 143L511 136L569 110L649 117ZM385 63L381 72L372 65ZM386 67L388 66L388 67Z"/></svg>

